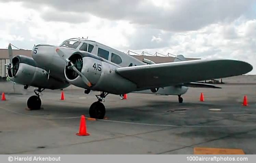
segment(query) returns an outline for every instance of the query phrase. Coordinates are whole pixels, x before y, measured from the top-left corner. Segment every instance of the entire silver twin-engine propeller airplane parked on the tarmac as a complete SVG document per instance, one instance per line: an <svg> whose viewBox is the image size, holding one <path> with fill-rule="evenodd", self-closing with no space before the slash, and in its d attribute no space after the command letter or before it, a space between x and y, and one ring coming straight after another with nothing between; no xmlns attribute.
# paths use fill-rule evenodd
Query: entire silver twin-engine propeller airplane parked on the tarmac
<svg viewBox="0 0 256 163"><path fill-rule="evenodd" d="M138 59L82 38L72 38L59 46L39 44L32 49L32 58L12 57L8 77L15 83L37 87L35 95L27 100L31 110L40 109L40 94L44 89L62 89L70 84L99 91L98 101L89 108L92 118L102 119L105 107L102 100L108 94L122 95L130 92L177 95L191 87L219 88L197 81L238 76L250 72L252 65L236 60L208 59L155 64Z"/></svg>

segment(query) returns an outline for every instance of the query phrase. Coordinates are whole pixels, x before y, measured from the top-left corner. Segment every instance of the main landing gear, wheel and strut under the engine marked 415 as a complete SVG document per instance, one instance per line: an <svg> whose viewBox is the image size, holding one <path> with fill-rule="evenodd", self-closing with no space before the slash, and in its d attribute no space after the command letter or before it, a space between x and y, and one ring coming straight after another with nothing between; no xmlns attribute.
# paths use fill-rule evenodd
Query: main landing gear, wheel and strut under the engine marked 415
<svg viewBox="0 0 256 163"><path fill-rule="evenodd" d="M94 102L91 104L90 109L89 109L89 114L91 118L96 118L96 119L103 119L106 113L105 106L102 101L104 102L104 99L109 93L106 92L100 92L100 95L96 95L98 101Z"/></svg>

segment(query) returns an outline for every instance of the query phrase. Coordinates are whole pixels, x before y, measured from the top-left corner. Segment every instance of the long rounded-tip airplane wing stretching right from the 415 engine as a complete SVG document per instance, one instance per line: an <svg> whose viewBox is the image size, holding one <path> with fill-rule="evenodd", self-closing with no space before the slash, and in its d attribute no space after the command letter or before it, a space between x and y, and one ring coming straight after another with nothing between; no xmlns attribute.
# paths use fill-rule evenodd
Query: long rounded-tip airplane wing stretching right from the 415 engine
<svg viewBox="0 0 256 163"><path fill-rule="evenodd" d="M237 60L209 59L117 68L138 87L163 87L246 74L252 65Z"/></svg>

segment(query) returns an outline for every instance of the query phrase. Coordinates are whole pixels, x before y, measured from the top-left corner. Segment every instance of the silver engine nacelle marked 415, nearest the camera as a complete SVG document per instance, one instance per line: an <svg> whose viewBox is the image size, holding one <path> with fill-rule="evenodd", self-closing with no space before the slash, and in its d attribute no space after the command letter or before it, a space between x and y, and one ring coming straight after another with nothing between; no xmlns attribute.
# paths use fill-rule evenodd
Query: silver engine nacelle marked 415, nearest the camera
<svg viewBox="0 0 256 163"><path fill-rule="evenodd" d="M82 78L67 65L65 67L66 80L75 86L117 95L132 92L137 88L136 84L115 72L115 69L119 68L117 65L98 56L76 52L70 56L69 60L92 84L88 87Z"/></svg>

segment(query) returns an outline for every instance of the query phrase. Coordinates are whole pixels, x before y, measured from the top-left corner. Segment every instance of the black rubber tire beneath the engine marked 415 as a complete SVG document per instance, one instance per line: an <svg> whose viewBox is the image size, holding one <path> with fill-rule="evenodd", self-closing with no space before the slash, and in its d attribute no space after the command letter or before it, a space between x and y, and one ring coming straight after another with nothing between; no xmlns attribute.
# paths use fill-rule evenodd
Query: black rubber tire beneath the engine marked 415
<svg viewBox="0 0 256 163"><path fill-rule="evenodd" d="M97 101L91 104L89 114L91 118L103 119L106 113L103 103Z"/></svg>

